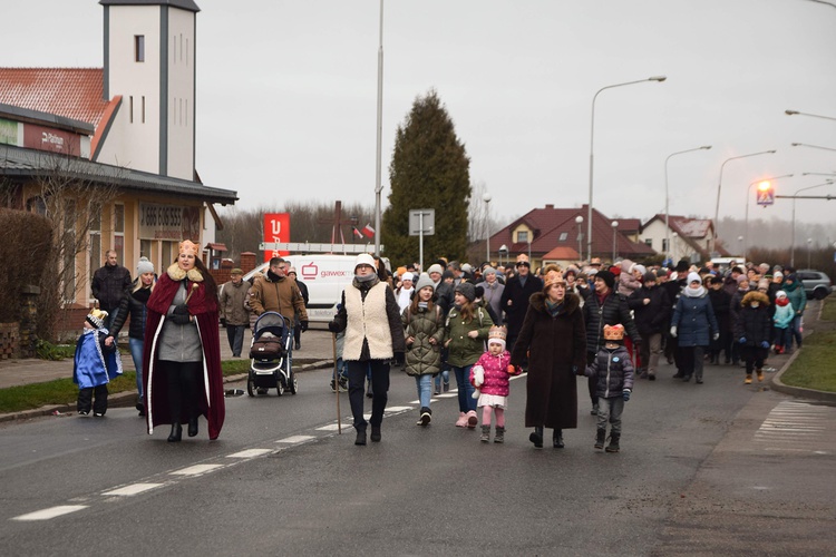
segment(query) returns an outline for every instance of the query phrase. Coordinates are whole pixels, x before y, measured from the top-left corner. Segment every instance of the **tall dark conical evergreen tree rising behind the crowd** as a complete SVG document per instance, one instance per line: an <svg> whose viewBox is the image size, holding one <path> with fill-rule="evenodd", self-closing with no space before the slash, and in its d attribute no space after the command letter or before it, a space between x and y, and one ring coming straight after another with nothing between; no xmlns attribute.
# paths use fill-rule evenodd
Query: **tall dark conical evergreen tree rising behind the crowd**
<svg viewBox="0 0 836 557"><path fill-rule="evenodd" d="M389 207L381 241L392 264L418 261L418 236L409 236L409 209L434 208L435 234L424 237L425 267L438 257L464 257L470 159L435 90L416 98L398 126L389 165Z"/></svg>

